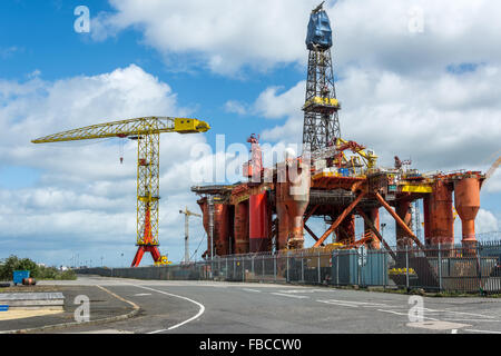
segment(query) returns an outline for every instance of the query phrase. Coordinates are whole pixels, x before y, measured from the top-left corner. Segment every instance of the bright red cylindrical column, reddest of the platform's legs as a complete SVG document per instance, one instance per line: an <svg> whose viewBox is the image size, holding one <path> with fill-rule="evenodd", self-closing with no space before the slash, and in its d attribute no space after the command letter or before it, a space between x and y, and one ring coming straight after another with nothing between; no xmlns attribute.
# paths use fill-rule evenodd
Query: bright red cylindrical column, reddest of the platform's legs
<svg viewBox="0 0 501 356"><path fill-rule="evenodd" d="M268 206L266 191L252 195L248 200L249 218L249 251L264 253L268 250Z"/></svg>

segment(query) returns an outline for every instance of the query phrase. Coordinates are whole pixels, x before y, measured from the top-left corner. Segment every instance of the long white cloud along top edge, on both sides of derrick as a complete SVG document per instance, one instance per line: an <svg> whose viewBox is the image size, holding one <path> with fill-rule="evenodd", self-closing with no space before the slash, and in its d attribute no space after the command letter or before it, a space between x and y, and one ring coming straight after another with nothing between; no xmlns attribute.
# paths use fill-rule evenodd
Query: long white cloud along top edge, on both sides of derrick
<svg viewBox="0 0 501 356"><path fill-rule="evenodd" d="M110 0L115 12L92 20L92 37L104 40L135 28L144 43L176 66L177 56L195 55L195 66L235 75L242 68L266 70L305 63L305 37L315 0ZM384 11L382 10L384 7ZM501 6L478 0L338 0L325 6L333 26L336 63L358 63L399 72L433 71L451 63L500 63ZM410 31L423 13L423 31ZM465 44L468 43L468 44ZM433 53L433 56L430 56ZM488 56L487 56L488 55ZM196 60L195 60L196 58Z"/></svg>

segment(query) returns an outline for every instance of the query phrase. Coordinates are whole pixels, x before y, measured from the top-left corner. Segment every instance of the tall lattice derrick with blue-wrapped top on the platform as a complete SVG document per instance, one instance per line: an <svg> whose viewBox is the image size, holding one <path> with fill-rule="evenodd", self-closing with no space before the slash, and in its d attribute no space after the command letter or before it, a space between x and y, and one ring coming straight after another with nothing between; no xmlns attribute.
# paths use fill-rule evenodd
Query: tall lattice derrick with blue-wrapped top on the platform
<svg viewBox="0 0 501 356"><path fill-rule="evenodd" d="M306 36L310 53L303 106L303 145L312 152L334 146L341 138L331 47L331 23L322 3L311 13Z"/></svg>

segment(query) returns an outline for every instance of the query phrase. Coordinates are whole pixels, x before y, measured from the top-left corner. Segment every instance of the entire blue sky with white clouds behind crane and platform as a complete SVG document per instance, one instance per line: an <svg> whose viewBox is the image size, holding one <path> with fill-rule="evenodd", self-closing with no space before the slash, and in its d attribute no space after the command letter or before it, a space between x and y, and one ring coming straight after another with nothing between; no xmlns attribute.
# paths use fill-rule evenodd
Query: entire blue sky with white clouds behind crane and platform
<svg viewBox="0 0 501 356"><path fill-rule="evenodd" d="M0 259L128 266L136 251L136 144L30 140L120 119L185 116L212 130L161 137L160 250L181 260L179 209L199 211L190 191L197 169L217 159L238 166L232 146L242 151L250 134L272 147L301 142L304 41L318 2L1 1ZM344 138L372 148L382 166L397 155L421 171L490 168L501 154L501 3L331 0L324 8ZM218 172L205 182L239 180ZM481 191L478 233L501 229L500 200L498 170ZM197 219L194 258L206 246ZM383 211L382 221L390 235ZM313 224L317 233L324 227ZM460 241L459 219L454 227Z"/></svg>

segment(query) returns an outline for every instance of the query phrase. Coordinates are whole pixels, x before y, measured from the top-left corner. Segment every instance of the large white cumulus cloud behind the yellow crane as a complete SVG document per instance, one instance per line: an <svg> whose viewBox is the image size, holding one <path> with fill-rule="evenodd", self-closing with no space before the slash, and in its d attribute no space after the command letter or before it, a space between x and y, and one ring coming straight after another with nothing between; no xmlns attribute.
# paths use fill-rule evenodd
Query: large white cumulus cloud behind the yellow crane
<svg viewBox="0 0 501 356"><path fill-rule="evenodd" d="M101 254L109 261L118 258L119 248L131 259L137 144L126 140L120 165L118 139L48 145L30 140L119 119L186 115L189 110L177 105L167 83L135 65L56 81L39 77L26 82L0 80L0 166L40 172L33 187L0 189L0 257L32 248L49 263L68 264L60 260L71 257L68 250L89 259ZM183 254L177 247L184 235L179 208L198 209L189 191L191 158L187 148L204 142L202 135L161 136L160 241L166 245L164 251L176 246L171 258L180 259Z"/></svg>

